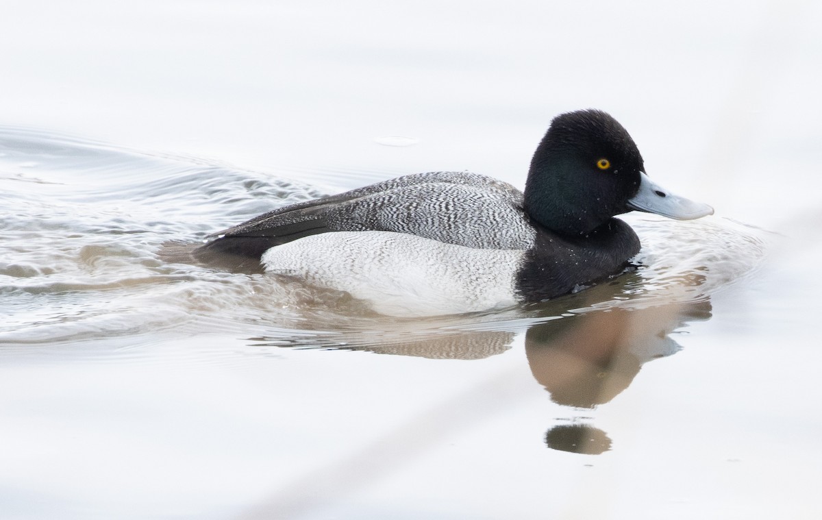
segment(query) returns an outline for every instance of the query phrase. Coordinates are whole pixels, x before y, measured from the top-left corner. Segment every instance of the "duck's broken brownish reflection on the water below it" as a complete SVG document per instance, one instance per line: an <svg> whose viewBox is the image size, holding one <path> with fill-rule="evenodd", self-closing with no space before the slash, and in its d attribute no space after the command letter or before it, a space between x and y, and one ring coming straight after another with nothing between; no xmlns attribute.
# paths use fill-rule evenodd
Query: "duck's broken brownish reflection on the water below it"
<svg viewBox="0 0 822 520"><path fill-rule="evenodd" d="M378 330L304 330L291 337L284 331L250 339L258 347L332 348L477 360L508 350L519 333L515 331L528 327L525 355L533 377L550 393L553 402L569 406L571 412L568 417L557 418L556 425L548 429L548 447L603 453L611 448L611 439L601 429L584 424L588 419L584 416L628 388L644 363L676 353L680 346L672 332L711 316L707 298L687 303L632 299L625 292L626 281L630 276L544 304L532 309L537 316L532 314L527 322L520 313L505 323L483 322L482 318L467 326L464 321L440 321L429 327L419 321L383 322Z"/></svg>

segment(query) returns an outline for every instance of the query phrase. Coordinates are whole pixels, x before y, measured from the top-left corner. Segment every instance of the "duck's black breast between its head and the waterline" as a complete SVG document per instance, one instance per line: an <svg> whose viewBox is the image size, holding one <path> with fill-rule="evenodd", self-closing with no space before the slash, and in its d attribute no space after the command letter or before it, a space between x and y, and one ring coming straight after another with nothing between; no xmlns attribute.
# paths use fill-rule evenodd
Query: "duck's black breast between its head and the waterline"
<svg viewBox="0 0 822 520"><path fill-rule="evenodd" d="M615 218L585 235L567 236L535 227L535 244L525 253L515 281L525 302L565 295L617 274L640 252L634 230Z"/></svg>

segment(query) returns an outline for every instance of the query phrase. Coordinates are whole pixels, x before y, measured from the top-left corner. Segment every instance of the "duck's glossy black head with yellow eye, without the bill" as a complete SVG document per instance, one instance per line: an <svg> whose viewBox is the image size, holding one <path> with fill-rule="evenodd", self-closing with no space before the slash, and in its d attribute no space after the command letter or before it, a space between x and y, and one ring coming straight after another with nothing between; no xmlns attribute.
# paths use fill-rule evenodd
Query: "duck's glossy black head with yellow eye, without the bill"
<svg viewBox="0 0 822 520"><path fill-rule="evenodd" d="M644 163L616 119L601 110L556 116L533 154L525 209L562 234L587 234L630 211Z"/></svg>

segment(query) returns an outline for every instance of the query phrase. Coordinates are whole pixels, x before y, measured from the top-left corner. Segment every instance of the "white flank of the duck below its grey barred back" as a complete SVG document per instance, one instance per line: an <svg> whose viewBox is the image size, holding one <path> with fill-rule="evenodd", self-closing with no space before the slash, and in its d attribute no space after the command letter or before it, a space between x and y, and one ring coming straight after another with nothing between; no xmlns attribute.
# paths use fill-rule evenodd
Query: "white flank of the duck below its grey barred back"
<svg viewBox="0 0 822 520"><path fill-rule="evenodd" d="M412 234L315 234L270 248L266 272L344 290L391 316L432 316L516 304L524 251L475 249Z"/></svg>

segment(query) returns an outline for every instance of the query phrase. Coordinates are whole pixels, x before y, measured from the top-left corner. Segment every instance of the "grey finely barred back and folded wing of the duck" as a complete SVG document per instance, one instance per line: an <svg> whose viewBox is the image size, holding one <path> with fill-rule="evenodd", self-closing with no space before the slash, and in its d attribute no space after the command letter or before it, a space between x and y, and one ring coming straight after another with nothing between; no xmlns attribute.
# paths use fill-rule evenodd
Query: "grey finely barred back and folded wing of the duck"
<svg viewBox="0 0 822 520"><path fill-rule="evenodd" d="M533 243L533 230L515 204L519 192L436 178L432 182L425 175L270 211L221 231L194 256L201 262L220 255L259 260L269 248L330 231L395 231L473 248L528 248Z"/></svg>

